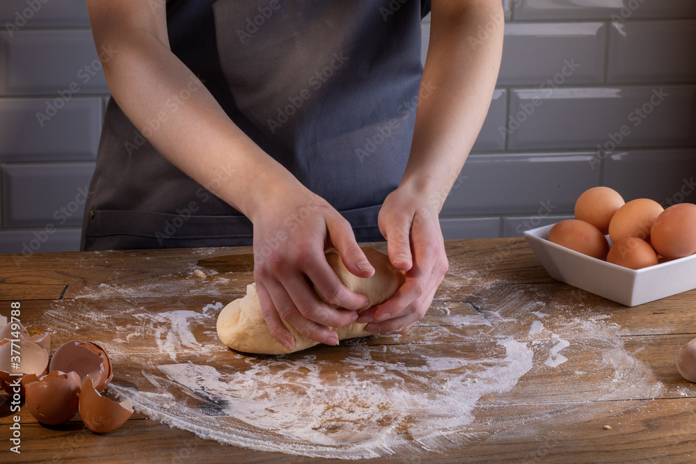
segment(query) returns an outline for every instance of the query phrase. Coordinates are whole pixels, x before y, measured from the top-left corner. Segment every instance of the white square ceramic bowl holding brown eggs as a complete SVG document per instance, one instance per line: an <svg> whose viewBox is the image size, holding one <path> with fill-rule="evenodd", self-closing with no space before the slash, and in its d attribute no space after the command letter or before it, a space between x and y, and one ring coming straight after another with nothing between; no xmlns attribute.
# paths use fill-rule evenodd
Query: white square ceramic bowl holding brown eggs
<svg viewBox="0 0 696 464"><path fill-rule="evenodd" d="M523 236L556 280L626 306L696 288L696 255L634 271L548 241L551 227L553 224L528 230Z"/></svg>

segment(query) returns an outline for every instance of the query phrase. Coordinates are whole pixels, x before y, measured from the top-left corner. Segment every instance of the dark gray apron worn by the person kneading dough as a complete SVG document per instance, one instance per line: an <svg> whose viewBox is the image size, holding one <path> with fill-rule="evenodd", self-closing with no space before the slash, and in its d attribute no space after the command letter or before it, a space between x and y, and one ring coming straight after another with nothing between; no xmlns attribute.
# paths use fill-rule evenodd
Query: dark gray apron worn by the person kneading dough
<svg viewBox="0 0 696 464"><path fill-rule="evenodd" d="M172 51L235 124L372 241L409 156L427 10L417 0L175 0L167 24ZM82 249L251 245L251 221L143 134L110 99ZM219 182L246 182L221 170Z"/></svg>

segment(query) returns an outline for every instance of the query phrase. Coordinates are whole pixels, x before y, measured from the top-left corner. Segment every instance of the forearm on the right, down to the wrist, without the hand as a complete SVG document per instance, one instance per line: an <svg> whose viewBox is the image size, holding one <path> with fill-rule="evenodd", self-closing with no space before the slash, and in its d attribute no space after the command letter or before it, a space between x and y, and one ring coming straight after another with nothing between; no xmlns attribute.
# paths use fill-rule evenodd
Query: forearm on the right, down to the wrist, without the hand
<svg viewBox="0 0 696 464"><path fill-rule="evenodd" d="M497 0L468 1L457 11L442 8L433 1L416 127L401 183L427 195L436 211L464 166L488 113L504 28L503 8Z"/></svg>

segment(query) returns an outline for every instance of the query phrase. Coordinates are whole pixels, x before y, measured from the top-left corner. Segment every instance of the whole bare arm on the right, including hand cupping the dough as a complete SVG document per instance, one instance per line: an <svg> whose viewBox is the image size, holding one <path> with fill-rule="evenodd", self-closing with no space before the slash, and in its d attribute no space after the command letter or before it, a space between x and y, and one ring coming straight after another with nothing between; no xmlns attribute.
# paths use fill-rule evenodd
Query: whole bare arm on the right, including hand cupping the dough
<svg viewBox="0 0 696 464"><path fill-rule="evenodd" d="M379 227L389 257L408 271L388 302L361 314L367 330L405 331L425 316L448 269L438 214L481 130L503 50L499 0L433 0L409 162Z"/></svg>

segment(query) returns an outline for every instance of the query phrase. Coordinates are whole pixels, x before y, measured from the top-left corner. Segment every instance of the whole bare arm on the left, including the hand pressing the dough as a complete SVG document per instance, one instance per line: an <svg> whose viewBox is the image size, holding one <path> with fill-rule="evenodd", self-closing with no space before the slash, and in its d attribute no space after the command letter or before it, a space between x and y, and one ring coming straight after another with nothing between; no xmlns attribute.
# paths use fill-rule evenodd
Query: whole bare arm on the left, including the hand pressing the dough
<svg viewBox="0 0 696 464"><path fill-rule="evenodd" d="M164 1L87 0L87 6L97 49L115 50L103 63L104 74L129 120L177 168L253 222L255 251L279 231L285 234L282 246L255 253L254 278L271 333L292 348L282 316L317 342L338 342L328 327L354 320L367 298L341 285L324 248L335 246L356 275L374 272L350 225L255 145L172 53ZM241 182L222 182L229 173ZM285 218L308 205L312 213L289 226ZM307 278L328 301L349 310L320 301Z"/></svg>

